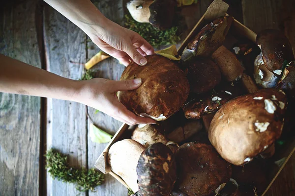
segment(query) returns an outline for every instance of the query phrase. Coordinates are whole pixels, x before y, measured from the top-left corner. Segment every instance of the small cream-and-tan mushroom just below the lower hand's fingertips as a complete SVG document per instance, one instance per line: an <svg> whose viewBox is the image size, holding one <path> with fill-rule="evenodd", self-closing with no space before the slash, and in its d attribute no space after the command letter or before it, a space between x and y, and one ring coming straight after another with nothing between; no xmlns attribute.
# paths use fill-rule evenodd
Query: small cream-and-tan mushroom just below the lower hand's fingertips
<svg viewBox="0 0 295 196"><path fill-rule="evenodd" d="M154 143L162 143L166 145L167 142L169 142L165 135L161 133L160 127L156 124L147 124L142 128L137 126L133 131L132 139L145 147Z"/></svg>

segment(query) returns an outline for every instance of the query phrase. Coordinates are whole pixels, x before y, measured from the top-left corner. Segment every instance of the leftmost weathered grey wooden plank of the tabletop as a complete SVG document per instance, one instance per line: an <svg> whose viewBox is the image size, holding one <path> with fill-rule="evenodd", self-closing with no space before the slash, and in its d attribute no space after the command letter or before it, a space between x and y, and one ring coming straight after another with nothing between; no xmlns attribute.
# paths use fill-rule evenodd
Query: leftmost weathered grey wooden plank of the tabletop
<svg viewBox="0 0 295 196"><path fill-rule="evenodd" d="M37 0L0 7L0 53L41 67ZM37 196L40 98L0 93L0 195Z"/></svg>

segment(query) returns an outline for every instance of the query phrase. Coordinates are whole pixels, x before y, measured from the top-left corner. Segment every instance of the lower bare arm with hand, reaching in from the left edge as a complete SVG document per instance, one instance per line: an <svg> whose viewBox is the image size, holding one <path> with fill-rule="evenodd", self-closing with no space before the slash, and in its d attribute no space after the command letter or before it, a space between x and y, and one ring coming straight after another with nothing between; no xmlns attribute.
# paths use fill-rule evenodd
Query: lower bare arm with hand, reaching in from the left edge
<svg viewBox="0 0 295 196"><path fill-rule="evenodd" d="M155 123L136 116L118 101L117 91L138 88L141 79L114 81L93 78L77 81L30 66L0 54L0 92L76 101L127 124Z"/></svg>

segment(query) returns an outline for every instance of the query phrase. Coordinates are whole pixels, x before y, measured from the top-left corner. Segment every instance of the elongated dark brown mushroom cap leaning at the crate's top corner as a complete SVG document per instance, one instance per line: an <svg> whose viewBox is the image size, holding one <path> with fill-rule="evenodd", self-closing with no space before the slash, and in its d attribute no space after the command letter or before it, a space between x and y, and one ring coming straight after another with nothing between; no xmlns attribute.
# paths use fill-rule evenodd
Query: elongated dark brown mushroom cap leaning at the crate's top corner
<svg viewBox="0 0 295 196"><path fill-rule="evenodd" d="M225 16L206 25L187 45L195 51L195 56L208 57L219 48L232 25L234 18Z"/></svg>

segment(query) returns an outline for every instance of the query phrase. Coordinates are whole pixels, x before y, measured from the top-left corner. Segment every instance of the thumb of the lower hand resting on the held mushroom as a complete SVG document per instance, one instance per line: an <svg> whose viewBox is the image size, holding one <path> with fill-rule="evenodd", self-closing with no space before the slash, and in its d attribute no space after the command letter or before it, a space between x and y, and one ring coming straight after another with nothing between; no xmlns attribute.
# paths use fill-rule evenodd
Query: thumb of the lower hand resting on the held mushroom
<svg viewBox="0 0 295 196"><path fill-rule="evenodd" d="M136 78L132 80L118 80L113 81L112 88L115 92L117 91L130 91L137 89L142 84L141 78Z"/></svg>

